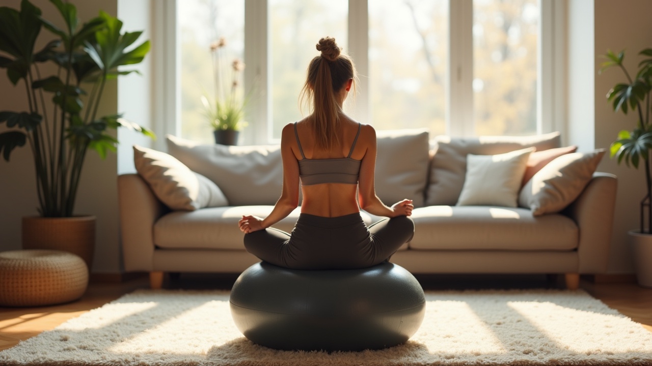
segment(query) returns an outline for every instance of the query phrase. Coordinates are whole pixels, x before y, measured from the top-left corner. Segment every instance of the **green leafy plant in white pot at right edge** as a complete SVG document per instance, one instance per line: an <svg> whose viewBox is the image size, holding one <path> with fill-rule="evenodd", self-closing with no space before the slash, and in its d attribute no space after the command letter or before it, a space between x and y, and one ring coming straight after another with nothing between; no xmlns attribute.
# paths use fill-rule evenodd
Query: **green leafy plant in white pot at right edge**
<svg viewBox="0 0 652 366"><path fill-rule="evenodd" d="M640 203L640 229L629 231L630 242L636 264L638 283L644 287L652 287L652 174L650 150L652 149L652 126L650 125L650 92L652 91L652 48L640 51L645 58L638 64L638 72L632 77L623 59L625 51L615 54L608 51L604 57L600 73L612 67L623 71L626 83L616 84L608 93L614 111L636 113L636 125L632 130L619 132L618 138L611 145L611 156L617 162L625 162L638 169L639 164L645 169L645 197Z"/></svg>

